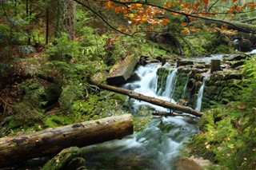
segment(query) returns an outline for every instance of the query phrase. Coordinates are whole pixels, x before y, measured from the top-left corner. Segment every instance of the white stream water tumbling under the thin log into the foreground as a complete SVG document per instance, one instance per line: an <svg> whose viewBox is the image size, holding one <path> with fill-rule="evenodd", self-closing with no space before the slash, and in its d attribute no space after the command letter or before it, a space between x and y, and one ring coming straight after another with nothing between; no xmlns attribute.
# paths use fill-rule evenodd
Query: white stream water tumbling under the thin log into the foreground
<svg viewBox="0 0 256 170"><path fill-rule="evenodd" d="M157 92L157 70L160 65L150 64L139 66L135 71L140 81L126 84L126 89L146 96L157 97L162 100L174 102L170 99L171 90L174 89L174 71L167 77L166 89L162 95ZM160 106L148 104L143 101L133 102L134 111L141 107L151 107L158 111L168 111ZM134 116L138 116L135 114ZM142 132L134 133L122 140L112 140L102 144L94 144L83 148L88 169L156 169L173 170L182 143L198 132L198 118L186 117L153 117L150 125Z"/></svg>

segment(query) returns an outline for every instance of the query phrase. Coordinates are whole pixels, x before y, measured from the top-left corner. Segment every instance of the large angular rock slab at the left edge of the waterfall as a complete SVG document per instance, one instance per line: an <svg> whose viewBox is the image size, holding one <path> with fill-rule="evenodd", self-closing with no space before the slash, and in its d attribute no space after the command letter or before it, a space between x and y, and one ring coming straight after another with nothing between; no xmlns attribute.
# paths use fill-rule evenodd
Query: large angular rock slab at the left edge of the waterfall
<svg viewBox="0 0 256 170"><path fill-rule="evenodd" d="M108 85L122 85L128 78L133 74L134 68L137 65L138 60L133 56L127 56L122 61L119 61L118 64L113 66L113 69L110 71L109 77L106 78Z"/></svg>

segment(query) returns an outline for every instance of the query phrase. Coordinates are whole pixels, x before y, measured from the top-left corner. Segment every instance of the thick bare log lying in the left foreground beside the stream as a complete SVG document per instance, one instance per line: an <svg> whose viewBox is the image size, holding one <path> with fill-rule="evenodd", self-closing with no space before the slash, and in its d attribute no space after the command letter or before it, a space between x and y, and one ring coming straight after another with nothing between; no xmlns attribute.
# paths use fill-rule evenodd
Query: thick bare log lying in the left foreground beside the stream
<svg viewBox="0 0 256 170"><path fill-rule="evenodd" d="M131 114L0 138L0 168L23 160L55 155L63 148L120 139L133 133Z"/></svg>

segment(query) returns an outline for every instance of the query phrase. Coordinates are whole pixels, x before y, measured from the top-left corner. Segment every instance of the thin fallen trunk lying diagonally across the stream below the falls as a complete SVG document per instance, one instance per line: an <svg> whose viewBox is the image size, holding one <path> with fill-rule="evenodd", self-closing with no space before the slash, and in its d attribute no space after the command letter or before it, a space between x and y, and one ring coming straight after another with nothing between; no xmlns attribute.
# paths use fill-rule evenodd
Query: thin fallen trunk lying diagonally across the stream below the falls
<svg viewBox="0 0 256 170"><path fill-rule="evenodd" d="M197 110L191 109L190 107L187 107L187 106L175 105L175 104L172 104L168 101L163 101L163 100L160 100L160 99L157 99L157 98L154 98L154 97L147 97L147 96L144 96L141 93L136 93L136 92L128 90L128 89L122 89L122 88L118 88L118 87L114 87L114 86L110 86L110 85L103 85L103 84L98 83L96 81L90 81L90 82L94 85L97 85L99 88L107 89L107 90L110 90L110 91L115 92L115 93L121 93L121 94L124 94L126 96L132 97L134 99L138 99L139 101L146 101L146 102L149 102L149 103L154 104L154 105L160 105L160 106L162 106L166 109L178 110L178 111L181 111L183 113L192 114L196 117L202 117L202 115L203 115L203 113L201 113Z"/></svg>

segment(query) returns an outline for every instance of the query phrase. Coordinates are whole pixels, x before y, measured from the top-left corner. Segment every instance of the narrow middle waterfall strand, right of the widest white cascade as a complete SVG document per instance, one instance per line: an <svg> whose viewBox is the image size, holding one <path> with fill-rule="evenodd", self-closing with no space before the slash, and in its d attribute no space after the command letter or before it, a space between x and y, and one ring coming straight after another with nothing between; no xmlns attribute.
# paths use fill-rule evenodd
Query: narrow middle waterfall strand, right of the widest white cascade
<svg viewBox="0 0 256 170"><path fill-rule="evenodd" d="M170 70L170 73L166 79L166 89L162 93L163 97L171 97L174 93L174 85L175 85L175 77L176 77L177 69Z"/></svg>

